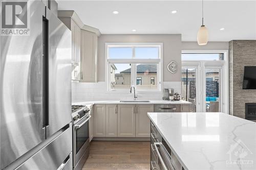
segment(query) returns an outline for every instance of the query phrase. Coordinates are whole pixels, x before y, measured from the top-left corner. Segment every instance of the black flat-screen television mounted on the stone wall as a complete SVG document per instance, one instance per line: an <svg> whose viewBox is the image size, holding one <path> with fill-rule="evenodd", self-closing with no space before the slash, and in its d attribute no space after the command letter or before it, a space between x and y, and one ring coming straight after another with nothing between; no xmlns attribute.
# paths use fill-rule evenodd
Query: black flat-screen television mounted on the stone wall
<svg viewBox="0 0 256 170"><path fill-rule="evenodd" d="M243 89L256 89L256 66L244 67Z"/></svg>

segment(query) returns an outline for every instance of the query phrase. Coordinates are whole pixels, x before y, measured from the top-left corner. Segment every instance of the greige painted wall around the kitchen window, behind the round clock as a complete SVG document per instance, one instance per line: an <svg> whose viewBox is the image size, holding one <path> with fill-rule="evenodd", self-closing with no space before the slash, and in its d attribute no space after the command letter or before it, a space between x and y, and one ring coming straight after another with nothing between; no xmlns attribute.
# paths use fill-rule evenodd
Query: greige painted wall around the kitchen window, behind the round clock
<svg viewBox="0 0 256 170"><path fill-rule="evenodd" d="M163 81L181 81L181 35L101 35L98 39L98 81L105 81L105 43L106 42L162 42L163 43ZM175 74L167 70L170 61L176 61Z"/></svg>

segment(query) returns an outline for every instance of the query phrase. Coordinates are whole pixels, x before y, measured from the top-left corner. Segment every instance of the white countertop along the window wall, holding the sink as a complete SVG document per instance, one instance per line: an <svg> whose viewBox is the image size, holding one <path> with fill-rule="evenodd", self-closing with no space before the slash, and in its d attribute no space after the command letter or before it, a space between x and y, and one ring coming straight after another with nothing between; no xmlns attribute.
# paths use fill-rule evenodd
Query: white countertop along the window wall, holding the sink
<svg viewBox="0 0 256 170"><path fill-rule="evenodd" d="M124 100L126 101L126 100ZM131 100L132 101L132 100ZM137 100L137 101L140 101L140 100ZM144 100L142 100L144 101ZM142 104L142 105L152 105L152 104L164 104L164 105L186 105L186 104L191 104L190 102L187 102L187 101L183 101L183 100L180 100L180 101L163 101L163 100L159 100L159 101L152 101L150 100L149 102L120 102L120 101L90 101L90 102L76 102L76 103L72 103L72 105L88 105L88 104L114 104L114 105L117 105L117 104L131 104L131 105L138 105L138 104Z"/></svg>

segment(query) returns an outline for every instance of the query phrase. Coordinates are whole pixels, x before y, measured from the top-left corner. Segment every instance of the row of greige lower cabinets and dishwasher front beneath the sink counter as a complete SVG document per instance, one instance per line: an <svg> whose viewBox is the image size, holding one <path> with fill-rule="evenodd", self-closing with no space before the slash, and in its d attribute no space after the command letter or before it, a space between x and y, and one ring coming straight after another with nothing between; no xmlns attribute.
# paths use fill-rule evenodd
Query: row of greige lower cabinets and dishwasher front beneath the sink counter
<svg viewBox="0 0 256 170"><path fill-rule="evenodd" d="M150 137L148 112L189 112L189 105L96 104L93 108L92 137Z"/></svg>

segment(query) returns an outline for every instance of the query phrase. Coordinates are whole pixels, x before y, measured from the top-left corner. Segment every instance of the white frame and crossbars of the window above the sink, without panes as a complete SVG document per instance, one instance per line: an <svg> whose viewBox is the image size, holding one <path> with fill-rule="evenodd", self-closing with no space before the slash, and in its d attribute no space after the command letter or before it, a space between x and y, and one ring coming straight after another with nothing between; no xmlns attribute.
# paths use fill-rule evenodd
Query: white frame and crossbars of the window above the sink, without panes
<svg viewBox="0 0 256 170"><path fill-rule="evenodd" d="M110 47L133 47L133 57L131 59L110 59L109 48ZM159 58L158 59L137 59L135 58L135 47L158 47ZM151 89L137 89L138 94L142 93L161 93L162 92L162 81L163 81L163 43L159 42L147 42L147 43L105 43L105 83L108 93L130 93L128 89L112 90L110 85L110 65L114 64L131 64L131 86L134 85L136 88L137 84L137 67L136 64L157 64L157 80L159 83L156 90ZM155 82L156 83L156 82Z"/></svg>

